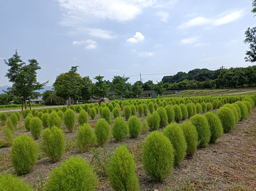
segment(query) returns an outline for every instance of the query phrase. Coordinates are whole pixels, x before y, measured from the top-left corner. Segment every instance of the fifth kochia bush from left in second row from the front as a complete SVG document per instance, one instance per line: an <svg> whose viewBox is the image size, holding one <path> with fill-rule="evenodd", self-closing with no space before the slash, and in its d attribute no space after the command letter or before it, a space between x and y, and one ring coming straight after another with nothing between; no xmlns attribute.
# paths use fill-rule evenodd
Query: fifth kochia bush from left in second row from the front
<svg viewBox="0 0 256 191"><path fill-rule="evenodd" d="M129 128L127 123L124 121L124 118L118 117L115 118L114 124L112 126L112 135L116 141L124 140L127 137Z"/></svg>

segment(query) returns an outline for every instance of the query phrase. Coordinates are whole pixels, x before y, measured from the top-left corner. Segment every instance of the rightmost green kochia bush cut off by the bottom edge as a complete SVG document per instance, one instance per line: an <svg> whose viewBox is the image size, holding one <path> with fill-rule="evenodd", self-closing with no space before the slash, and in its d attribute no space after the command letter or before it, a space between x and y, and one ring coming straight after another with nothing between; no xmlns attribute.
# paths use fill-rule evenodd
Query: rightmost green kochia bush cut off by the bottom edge
<svg viewBox="0 0 256 191"><path fill-rule="evenodd" d="M114 191L139 191L136 164L124 146L116 148L109 162L109 181Z"/></svg>

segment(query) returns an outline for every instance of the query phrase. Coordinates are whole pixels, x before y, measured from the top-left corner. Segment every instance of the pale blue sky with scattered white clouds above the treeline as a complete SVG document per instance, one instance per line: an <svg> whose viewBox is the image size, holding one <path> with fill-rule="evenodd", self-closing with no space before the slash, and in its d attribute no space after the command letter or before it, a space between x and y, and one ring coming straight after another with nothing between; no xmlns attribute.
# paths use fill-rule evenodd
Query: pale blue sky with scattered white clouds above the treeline
<svg viewBox="0 0 256 191"><path fill-rule="evenodd" d="M37 59L38 81L79 66L82 77L161 81L196 68L248 66L251 0L5 0L0 2L0 86L9 59Z"/></svg>

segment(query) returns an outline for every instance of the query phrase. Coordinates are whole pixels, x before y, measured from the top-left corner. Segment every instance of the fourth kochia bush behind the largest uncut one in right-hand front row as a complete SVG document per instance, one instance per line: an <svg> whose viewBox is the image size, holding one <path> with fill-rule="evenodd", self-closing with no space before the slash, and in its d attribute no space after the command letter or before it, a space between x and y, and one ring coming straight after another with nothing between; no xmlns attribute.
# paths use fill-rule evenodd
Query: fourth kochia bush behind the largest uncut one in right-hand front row
<svg viewBox="0 0 256 191"><path fill-rule="evenodd" d="M220 119L218 116L212 112L207 112L204 114L208 121L208 125L211 130L211 143L215 143L218 138L220 138L223 134L223 128Z"/></svg>

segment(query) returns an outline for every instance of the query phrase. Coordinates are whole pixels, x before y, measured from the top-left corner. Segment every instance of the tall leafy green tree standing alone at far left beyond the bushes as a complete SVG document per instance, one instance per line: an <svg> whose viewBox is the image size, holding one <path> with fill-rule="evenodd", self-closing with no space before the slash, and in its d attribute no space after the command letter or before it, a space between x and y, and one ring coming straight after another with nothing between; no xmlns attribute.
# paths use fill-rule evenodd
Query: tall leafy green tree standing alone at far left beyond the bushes
<svg viewBox="0 0 256 191"><path fill-rule="evenodd" d="M37 99L40 93L36 91L43 89L48 83L48 81L42 84L37 82L37 70L41 69L38 61L36 59L30 59L28 62L29 64L26 64L21 60L21 56L18 55L17 50L15 50L15 54L8 61L4 60L4 63L10 67L5 77L8 77L9 81L13 83L12 87L7 88L7 91L4 92L22 97L25 103L25 109L26 100Z"/></svg>

